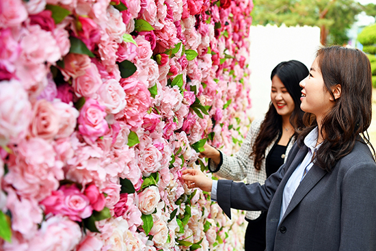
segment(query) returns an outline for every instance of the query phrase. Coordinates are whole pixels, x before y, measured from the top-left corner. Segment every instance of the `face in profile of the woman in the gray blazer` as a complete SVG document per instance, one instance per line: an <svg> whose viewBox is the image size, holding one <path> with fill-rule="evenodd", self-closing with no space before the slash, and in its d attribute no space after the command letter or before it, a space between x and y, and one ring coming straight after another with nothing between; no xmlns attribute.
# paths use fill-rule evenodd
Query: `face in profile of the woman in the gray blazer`
<svg viewBox="0 0 376 251"><path fill-rule="evenodd" d="M310 68L310 74L300 81L299 85L303 88L301 90L300 108L314 114L317 120L321 120L326 112L333 107L334 98L325 87L317 58Z"/></svg>

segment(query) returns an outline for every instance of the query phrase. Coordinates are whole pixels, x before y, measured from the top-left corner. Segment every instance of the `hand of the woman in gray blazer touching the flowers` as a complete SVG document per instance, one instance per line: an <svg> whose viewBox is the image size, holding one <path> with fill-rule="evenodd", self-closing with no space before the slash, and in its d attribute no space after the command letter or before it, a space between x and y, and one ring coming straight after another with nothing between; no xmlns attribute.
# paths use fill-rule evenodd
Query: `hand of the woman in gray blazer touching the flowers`
<svg viewBox="0 0 376 251"><path fill-rule="evenodd" d="M189 188L198 187L202 191L211 191L213 180L197 169L186 169L183 172L183 180Z"/></svg>

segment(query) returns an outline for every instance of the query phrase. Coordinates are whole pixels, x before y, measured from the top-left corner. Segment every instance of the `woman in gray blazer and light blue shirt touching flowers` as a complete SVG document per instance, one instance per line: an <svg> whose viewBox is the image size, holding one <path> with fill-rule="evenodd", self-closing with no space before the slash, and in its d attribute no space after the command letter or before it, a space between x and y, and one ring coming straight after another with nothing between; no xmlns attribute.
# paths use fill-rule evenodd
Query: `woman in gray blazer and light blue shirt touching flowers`
<svg viewBox="0 0 376 251"><path fill-rule="evenodd" d="M321 48L300 85L308 127L265 185L212 181L200 170L183 179L211 191L229 217L231 207L269 210L267 251L376 250L370 62L358 49Z"/></svg>

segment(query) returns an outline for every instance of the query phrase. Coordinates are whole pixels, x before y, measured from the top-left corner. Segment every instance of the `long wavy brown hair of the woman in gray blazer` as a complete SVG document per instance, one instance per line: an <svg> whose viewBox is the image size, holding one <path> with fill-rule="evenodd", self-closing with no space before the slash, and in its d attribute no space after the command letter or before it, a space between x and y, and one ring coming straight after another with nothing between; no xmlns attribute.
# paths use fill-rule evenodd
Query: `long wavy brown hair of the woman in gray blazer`
<svg viewBox="0 0 376 251"><path fill-rule="evenodd" d="M371 64L362 51L338 46L319 49L317 60L325 87L333 98L331 87L341 86L340 98L334 98L334 107L323 118L321 133L325 140L315 157L315 163L330 172L340 158L353 150L360 134L375 154L366 133L372 116ZM317 127L313 114L305 114L304 122L307 127L299 134L299 146Z"/></svg>

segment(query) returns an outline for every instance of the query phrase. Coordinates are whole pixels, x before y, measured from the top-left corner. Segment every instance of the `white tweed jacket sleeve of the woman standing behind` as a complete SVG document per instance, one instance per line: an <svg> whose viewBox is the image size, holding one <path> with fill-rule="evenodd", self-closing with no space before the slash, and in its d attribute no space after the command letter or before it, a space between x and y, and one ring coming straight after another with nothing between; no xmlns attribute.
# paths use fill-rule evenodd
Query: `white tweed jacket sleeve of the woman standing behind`
<svg viewBox="0 0 376 251"><path fill-rule="evenodd" d="M251 128L245 137L245 141L241 145L239 152L233 157L221 153L221 164L218 166L215 166L213 161L209 160L209 170L216 172L218 176L224 179L243 181L243 179L247 177L248 169L254 168L253 161L250 159L250 153L262 121L263 120L255 120L252 122Z"/></svg>

